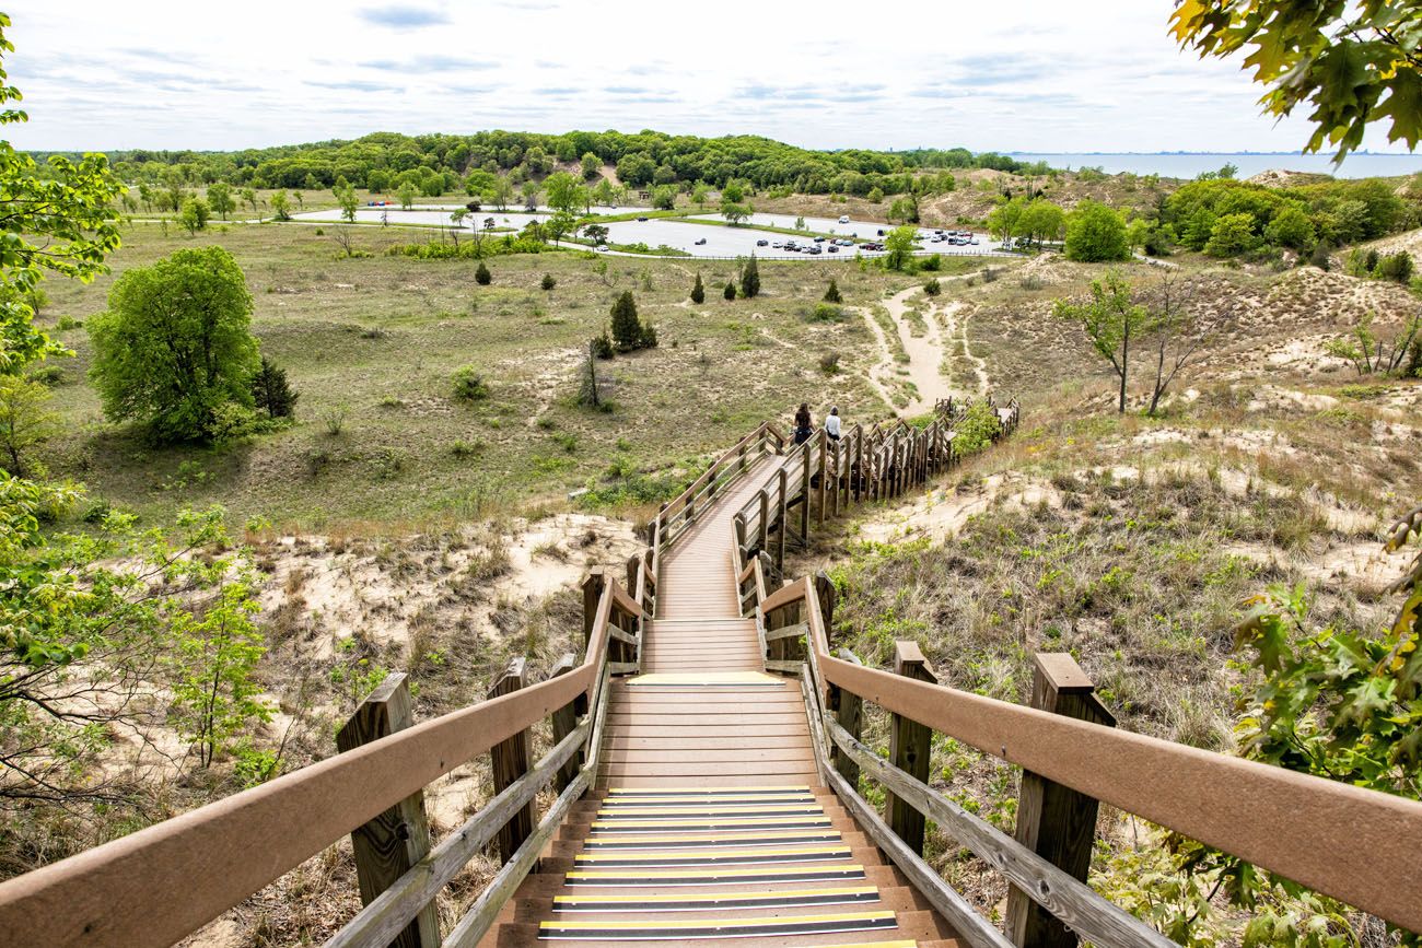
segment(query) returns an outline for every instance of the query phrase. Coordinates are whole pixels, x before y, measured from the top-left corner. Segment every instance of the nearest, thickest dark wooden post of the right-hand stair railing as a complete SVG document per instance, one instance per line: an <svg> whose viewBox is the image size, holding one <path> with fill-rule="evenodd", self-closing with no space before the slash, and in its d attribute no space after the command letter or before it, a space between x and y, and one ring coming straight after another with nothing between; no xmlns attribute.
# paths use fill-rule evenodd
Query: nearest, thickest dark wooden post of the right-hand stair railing
<svg viewBox="0 0 1422 948"><path fill-rule="evenodd" d="M1038 652L1032 708L1066 718L1116 726L1095 695L1086 672L1064 652ZM1017 803L1017 841L1062 871L1086 881L1096 836L1098 803L1031 770L1022 770ZM1017 887L1007 894L1007 935L1018 948L1074 948L1076 934Z"/></svg>

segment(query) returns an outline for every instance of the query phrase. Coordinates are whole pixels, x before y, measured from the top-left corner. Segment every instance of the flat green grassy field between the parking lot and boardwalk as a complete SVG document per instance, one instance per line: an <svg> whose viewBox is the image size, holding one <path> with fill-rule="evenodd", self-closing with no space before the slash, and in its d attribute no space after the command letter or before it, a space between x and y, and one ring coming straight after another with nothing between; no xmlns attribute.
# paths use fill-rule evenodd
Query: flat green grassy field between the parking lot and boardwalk
<svg viewBox="0 0 1422 948"><path fill-rule="evenodd" d="M112 276L87 287L51 283L43 321L71 325L104 308L127 267L222 244L247 276L263 354L300 391L289 431L226 449L155 448L104 421L85 377L87 333L58 330L78 357L60 361L54 402L70 433L44 455L51 472L156 520L220 502L237 522L400 529L478 517L491 506L557 503L587 486L644 493L646 476L674 482L698 456L762 418L788 418L801 401L835 402L855 419L887 414L862 378L867 331L855 320L806 316L830 277L855 304L907 286L903 276L845 263L762 263L762 296L732 303L721 296L731 262L563 252L491 260L493 283L482 287L474 262L384 253L429 237L358 230L354 239L373 256L343 259L330 236L304 226L233 225L188 237L135 225L112 257ZM691 306L698 271L707 301ZM540 289L545 273L557 281L552 291ZM587 340L624 290L657 327L660 347L599 362L616 408L580 408ZM830 351L842 368L826 377L819 360ZM462 365L483 374L486 401L455 401L451 375ZM620 476L609 478L613 466Z"/></svg>

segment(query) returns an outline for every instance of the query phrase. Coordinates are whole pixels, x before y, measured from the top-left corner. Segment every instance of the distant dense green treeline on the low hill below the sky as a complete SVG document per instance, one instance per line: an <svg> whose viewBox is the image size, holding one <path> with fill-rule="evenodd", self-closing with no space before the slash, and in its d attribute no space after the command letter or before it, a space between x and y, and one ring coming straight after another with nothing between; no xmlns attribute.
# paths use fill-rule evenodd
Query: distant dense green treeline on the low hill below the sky
<svg viewBox="0 0 1422 948"><path fill-rule="evenodd" d="M41 159L48 152L33 152ZM108 153L131 183L205 185L226 182L243 188L324 189L340 179L374 192L412 182L427 193L459 190L471 172L506 175L513 183L540 179L560 163L576 165L587 179L604 165L633 188L705 182L721 188L735 179L761 189L795 193L884 195L923 190L924 179L943 181L951 169L1045 173L1042 162L1020 162L966 148L882 152L865 149L811 151L752 135L697 138L643 131L478 132L475 135L398 135L377 132L356 141L245 149L236 152L117 151ZM939 175L926 175L937 171ZM933 188L943 190L947 188Z"/></svg>

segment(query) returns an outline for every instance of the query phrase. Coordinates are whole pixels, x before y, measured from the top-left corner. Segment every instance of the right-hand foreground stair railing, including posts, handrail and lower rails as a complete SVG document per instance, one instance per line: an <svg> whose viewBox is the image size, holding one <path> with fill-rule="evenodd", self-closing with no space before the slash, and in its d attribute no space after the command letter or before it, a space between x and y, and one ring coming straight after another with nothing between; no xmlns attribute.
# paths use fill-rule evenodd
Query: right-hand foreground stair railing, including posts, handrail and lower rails
<svg viewBox="0 0 1422 948"><path fill-rule="evenodd" d="M1098 800L1422 931L1422 803L1116 731L1069 655L1038 655L1031 708L937 684L912 642L897 644L896 672L865 668L830 654L832 588L802 578L772 593L765 635L799 644L782 668L798 661L826 783L968 942L1175 944L1086 885ZM887 760L859 739L866 701L890 715ZM929 786L933 732L1022 767L1015 837ZM884 816L859 795L862 773L884 787ZM1007 934L923 861L924 819L1011 883Z"/></svg>

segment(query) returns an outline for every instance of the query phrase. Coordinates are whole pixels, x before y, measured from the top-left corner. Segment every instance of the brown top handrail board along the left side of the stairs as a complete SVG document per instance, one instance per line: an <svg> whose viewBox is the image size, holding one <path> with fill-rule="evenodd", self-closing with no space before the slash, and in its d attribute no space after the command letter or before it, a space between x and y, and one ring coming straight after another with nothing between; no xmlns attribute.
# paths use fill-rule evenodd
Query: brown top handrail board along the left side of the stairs
<svg viewBox="0 0 1422 948"><path fill-rule="evenodd" d="M610 581L583 662L565 675L363 745L262 786L0 883L10 944L155 948L192 934L333 841L592 694L600 708L613 608L641 608ZM220 871L213 871L220 867ZM181 898L171 897L181 893ZM154 911L162 900L162 911Z"/></svg>

